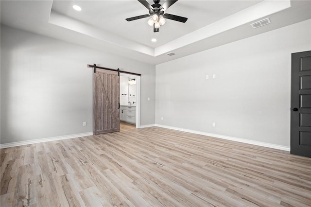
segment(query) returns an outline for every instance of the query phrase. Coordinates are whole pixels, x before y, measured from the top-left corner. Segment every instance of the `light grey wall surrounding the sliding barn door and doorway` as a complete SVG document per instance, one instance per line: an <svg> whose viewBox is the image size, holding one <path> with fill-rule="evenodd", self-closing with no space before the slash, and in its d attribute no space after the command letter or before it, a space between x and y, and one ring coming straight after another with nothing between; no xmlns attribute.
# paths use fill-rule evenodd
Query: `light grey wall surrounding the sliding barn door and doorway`
<svg viewBox="0 0 311 207"><path fill-rule="evenodd" d="M142 74L140 124L154 124L155 66L1 25L1 144L92 132L94 63Z"/></svg>

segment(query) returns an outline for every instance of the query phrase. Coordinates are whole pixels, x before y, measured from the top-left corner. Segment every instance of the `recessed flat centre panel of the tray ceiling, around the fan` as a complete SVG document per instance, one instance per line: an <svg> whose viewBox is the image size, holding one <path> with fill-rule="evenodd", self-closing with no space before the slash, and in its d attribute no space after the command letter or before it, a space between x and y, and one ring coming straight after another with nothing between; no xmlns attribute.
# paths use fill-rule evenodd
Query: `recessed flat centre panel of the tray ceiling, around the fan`
<svg viewBox="0 0 311 207"><path fill-rule="evenodd" d="M153 4L151 0L148 1ZM161 3L162 1L160 1ZM164 0L163 0L164 2ZM95 27L101 28L114 35L137 41L155 48L187 35L228 15L241 11L259 1L203 1L179 0L166 10L165 13L188 17L186 23L167 20L160 33L154 33L147 24L148 18L128 22L127 17L148 14L148 9L138 0L105 0L105 1L53 1L52 10L68 17L72 17ZM81 12L72 9L72 5L79 4ZM195 12L190 12L195 11ZM150 40L157 38L157 42Z"/></svg>

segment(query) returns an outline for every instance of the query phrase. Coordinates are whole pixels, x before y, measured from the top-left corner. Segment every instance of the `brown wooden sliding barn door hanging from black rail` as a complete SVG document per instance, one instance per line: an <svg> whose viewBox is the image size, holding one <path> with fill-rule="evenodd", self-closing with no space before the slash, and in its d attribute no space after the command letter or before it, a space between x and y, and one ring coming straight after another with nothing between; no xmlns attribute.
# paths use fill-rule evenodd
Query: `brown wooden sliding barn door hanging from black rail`
<svg viewBox="0 0 311 207"><path fill-rule="evenodd" d="M118 72L94 73L94 135L120 131L120 79Z"/></svg>

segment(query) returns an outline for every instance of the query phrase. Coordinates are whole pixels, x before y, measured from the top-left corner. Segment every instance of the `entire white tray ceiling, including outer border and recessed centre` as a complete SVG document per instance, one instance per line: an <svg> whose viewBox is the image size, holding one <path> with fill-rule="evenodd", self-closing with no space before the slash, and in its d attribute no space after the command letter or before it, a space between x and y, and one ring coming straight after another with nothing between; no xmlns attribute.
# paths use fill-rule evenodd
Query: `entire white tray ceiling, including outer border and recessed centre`
<svg viewBox="0 0 311 207"><path fill-rule="evenodd" d="M73 10L74 4L82 11ZM150 64L311 18L311 0L178 0L165 13L188 17L188 21L167 19L154 33L148 18L125 20L148 14L137 0L1 0L0 7L2 24ZM271 24L250 26L265 17ZM152 38L157 42L151 42ZM166 55L169 52L176 55Z"/></svg>

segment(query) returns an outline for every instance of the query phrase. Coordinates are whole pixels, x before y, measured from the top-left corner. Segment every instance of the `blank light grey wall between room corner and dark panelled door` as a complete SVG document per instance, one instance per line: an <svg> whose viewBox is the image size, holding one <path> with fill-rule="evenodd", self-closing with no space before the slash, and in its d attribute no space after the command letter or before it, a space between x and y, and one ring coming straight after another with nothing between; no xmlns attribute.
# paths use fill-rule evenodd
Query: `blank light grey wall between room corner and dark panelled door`
<svg viewBox="0 0 311 207"><path fill-rule="evenodd" d="M157 65L155 123L288 147L291 53L308 50L311 20Z"/></svg>

